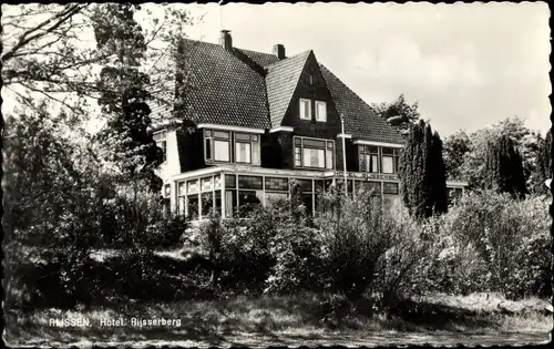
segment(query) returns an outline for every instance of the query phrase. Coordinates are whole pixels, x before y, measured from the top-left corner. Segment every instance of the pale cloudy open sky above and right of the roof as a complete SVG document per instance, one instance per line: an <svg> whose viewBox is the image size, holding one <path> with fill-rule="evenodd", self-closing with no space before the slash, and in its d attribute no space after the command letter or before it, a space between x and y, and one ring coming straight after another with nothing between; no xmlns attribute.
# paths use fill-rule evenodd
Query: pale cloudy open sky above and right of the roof
<svg viewBox="0 0 554 349"><path fill-rule="evenodd" d="M188 37L317 60L368 103L404 94L448 135L519 115L550 127L552 91L546 3L191 4Z"/></svg>

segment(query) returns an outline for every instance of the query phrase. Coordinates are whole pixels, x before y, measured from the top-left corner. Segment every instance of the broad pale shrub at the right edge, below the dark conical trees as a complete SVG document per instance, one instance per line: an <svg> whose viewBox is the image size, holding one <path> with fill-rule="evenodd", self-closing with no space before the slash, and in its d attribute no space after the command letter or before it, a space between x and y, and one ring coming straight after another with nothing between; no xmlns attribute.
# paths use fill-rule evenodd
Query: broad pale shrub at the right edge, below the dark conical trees
<svg viewBox="0 0 554 349"><path fill-rule="evenodd" d="M427 286L450 294L496 291L511 298L551 292L545 197L472 193L443 218Z"/></svg>

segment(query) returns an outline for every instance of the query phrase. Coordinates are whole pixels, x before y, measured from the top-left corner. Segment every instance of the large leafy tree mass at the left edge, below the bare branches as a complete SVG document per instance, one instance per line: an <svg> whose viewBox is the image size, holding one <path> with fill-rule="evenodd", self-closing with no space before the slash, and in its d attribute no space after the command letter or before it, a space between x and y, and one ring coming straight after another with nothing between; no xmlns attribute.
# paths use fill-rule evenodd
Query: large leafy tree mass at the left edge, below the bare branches
<svg viewBox="0 0 554 349"><path fill-rule="evenodd" d="M57 265L53 271L64 295L73 295L82 285L82 266L101 215L99 166L90 150L63 130L71 116L52 115L44 103L39 111L8 115L3 135L2 227L10 305L18 290L35 287L24 280L35 276L37 268L42 270L29 256L41 265Z"/></svg>

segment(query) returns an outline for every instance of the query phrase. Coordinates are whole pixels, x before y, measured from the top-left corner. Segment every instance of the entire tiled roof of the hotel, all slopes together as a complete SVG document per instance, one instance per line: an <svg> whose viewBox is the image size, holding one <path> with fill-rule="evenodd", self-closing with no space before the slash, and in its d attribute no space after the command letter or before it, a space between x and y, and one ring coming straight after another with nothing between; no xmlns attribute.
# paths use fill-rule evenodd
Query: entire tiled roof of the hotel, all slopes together
<svg viewBox="0 0 554 349"><path fill-rule="evenodd" d="M234 49L202 41L183 40L185 58L178 62L188 72L184 107L176 117L196 124L273 129L281 125L301 72L312 51L279 60L268 53ZM319 64L345 132L355 138L403 144L402 136L325 65ZM173 90L175 90L173 88ZM155 112L167 113L166 109Z"/></svg>

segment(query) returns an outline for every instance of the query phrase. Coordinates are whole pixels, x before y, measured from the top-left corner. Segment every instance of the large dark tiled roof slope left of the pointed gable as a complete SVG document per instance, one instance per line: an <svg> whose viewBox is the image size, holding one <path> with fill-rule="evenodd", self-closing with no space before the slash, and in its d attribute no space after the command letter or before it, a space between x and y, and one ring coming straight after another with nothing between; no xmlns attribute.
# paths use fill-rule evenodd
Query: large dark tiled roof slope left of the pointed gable
<svg viewBox="0 0 554 349"><path fill-rule="evenodd" d="M197 124L268 129L266 83L263 75L219 44L184 40L189 66L184 109L179 117Z"/></svg>

